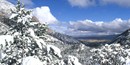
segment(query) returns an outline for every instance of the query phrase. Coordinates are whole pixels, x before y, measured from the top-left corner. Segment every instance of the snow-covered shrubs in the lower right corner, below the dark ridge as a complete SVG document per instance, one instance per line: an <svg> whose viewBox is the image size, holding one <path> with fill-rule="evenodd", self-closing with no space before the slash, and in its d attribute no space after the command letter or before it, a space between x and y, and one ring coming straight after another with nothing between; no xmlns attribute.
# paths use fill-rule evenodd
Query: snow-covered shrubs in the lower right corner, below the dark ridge
<svg viewBox="0 0 130 65"><path fill-rule="evenodd" d="M120 44L106 44L101 48L92 49L94 55L91 56L93 65L129 65L130 49L129 46Z"/></svg>

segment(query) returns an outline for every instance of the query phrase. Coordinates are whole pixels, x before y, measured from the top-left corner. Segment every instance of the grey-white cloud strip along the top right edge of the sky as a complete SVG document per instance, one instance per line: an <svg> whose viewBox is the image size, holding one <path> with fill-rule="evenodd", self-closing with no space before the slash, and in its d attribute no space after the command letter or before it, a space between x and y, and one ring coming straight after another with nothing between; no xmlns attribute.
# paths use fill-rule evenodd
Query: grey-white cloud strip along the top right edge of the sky
<svg viewBox="0 0 130 65"><path fill-rule="evenodd" d="M88 7L93 5L117 4L130 7L130 0L68 0L72 6ZM98 2L98 3L97 3Z"/></svg>

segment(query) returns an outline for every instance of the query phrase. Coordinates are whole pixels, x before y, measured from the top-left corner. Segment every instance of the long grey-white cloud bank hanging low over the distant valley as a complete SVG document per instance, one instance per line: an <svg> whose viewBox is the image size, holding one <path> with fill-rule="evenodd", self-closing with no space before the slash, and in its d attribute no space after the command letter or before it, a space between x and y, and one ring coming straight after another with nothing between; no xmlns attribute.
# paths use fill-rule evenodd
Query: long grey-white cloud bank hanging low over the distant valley
<svg viewBox="0 0 130 65"><path fill-rule="evenodd" d="M80 34L110 35L121 33L128 29L130 27L130 20L122 20L120 18L117 18L111 22L93 22L91 20L84 20L71 22L71 26L72 27L70 28L81 32Z"/></svg>

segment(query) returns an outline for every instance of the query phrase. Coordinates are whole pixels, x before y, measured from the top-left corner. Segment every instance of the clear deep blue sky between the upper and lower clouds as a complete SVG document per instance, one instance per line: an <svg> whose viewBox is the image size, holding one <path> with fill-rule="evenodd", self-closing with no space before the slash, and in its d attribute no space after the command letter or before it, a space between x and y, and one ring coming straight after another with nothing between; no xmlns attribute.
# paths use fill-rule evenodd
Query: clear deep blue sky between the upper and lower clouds
<svg viewBox="0 0 130 65"><path fill-rule="evenodd" d="M13 0L9 0L12 1ZM14 0L15 1L15 0ZM80 1L80 0L79 0ZM16 1L15 1L16 2ZM67 0L32 0L29 8L48 6L59 21L90 19L93 21L111 21L115 18L129 19L130 7L118 4L95 5L88 7L71 6ZM14 3L14 2L13 2Z"/></svg>

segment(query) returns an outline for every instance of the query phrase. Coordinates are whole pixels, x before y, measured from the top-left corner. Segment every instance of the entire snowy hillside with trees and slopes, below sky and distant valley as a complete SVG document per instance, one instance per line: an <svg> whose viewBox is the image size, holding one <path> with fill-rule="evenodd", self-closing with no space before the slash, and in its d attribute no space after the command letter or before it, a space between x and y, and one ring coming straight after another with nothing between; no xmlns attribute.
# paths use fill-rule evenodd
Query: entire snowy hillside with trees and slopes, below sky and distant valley
<svg viewBox="0 0 130 65"><path fill-rule="evenodd" d="M110 45L91 48L70 36L50 32L18 2L0 0L0 65L130 65L129 30ZM2 11L5 11L4 13ZM10 11L11 12L11 11Z"/></svg>

